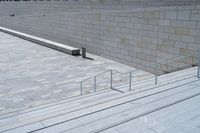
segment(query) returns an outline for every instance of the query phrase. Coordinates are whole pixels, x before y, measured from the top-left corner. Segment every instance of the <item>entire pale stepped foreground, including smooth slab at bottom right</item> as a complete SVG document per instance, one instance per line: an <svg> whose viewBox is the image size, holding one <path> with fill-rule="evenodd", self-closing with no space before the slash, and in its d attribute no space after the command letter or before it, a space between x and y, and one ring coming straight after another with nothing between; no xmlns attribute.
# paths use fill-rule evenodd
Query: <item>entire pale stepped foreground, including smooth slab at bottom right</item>
<svg viewBox="0 0 200 133"><path fill-rule="evenodd" d="M166 74L159 77L160 81L165 83L159 82L161 84L157 86L150 86L148 82L144 82L143 85L146 86L142 87L140 84L138 89L129 93L108 97L105 96L107 93L92 97L85 95L88 97L38 110L20 112L0 119L0 131L5 131L3 133L27 133L33 130L37 131L32 133L98 131L110 133L117 130L123 133L132 131L146 133L151 132L152 129L164 132L168 127L172 127L175 132L180 131L177 126L188 121L192 123L184 127L191 131L191 127L198 128L196 123L198 119L192 118L200 113L199 98L194 100L195 102L190 102L200 95L200 82L196 77L196 71L197 68L194 67ZM183 106L179 106L180 104ZM138 123L135 123L135 120Z"/></svg>

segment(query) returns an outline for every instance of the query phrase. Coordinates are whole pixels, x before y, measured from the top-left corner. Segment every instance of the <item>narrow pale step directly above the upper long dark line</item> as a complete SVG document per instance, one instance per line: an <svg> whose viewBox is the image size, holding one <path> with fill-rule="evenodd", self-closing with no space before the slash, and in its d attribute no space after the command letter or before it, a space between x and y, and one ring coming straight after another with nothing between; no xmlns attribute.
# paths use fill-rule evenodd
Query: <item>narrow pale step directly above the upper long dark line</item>
<svg viewBox="0 0 200 133"><path fill-rule="evenodd" d="M37 114L37 116L34 116L30 113L30 114L23 114L21 116L17 116L15 119L17 121L14 121L10 123L6 123L6 126L2 126L1 127L1 130L7 130L7 129L10 129L10 128L15 128L15 127L20 127L20 126L24 126L24 125L28 125L28 124L31 124L33 122L36 122L36 121L41 121L41 120L48 120L50 123L46 123L45 126L49 126L51 124L55 124L55 123L59 123L59 122L63 122L63 121L66 121L66 120L70 120L70 119L73 119L75 117L78 117L78 116L83 116L83 115L87 115L88 113L90 112L94 112L94 111L98 111L98 110L102 110L102 109L106 109L106 108L109 108L111 105L118 105L118 104L123 104L123 102L126 100L133 100L133 99L137 99L137 98L142 98L144 96L147 96L147 95L152 95L154 93L158 93L158 91L162 91L163 89L165 90L166 88L172 88L172 87L177 87L179 85L182 85L184 83L187 83L187 82L192 82L196 80L196 78L194 77L193 79L187 79L187 81L182 81L182 82L178 82L178 83L174 83L174 84L169 84L169 85L166 85L166 87L157 87L153 90L149 90L147 92L143 92L142 94L137 94L136 96L133 95L133 94L124 94L123 97L116 97L115 100L112 100L112 101L107 101L106 103L97 103L96 105L93 105L91 107L87 107L87 108L83 108L83 109L80 109L80 110L77 110L76 112L71 112L71 113L65 113L65 111L63 111L62 113L60 112L54 112L54 113L50 113L48 114L46 112L46 114ZM64 114L65 113L65 114ZM60 115L59 115L60 114ZM52 117L52 118L50 118ZM55 120L56 119L56 120ZM45 121L46 121L45 120ZM52 123L53 122L53 123Z"/></svg>

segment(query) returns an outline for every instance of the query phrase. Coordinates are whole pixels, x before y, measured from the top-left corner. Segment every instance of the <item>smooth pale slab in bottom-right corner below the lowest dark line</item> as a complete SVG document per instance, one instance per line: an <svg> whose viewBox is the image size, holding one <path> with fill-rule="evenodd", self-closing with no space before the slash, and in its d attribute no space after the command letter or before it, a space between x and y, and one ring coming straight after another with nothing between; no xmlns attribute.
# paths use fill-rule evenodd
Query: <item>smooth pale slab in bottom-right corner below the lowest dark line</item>
<svg viewBox="0 0 200 133"><path fill-rule="evenodd" d="M123 133L132 133L134 130L134 132L139 133L142 131L149 132L149 129L157 132L177 133L180 128L190 129L188 133L191 133L191 128L197 127L196 122L199 124L200 117L197 117L200 113L199 101L199 96L194 97L175 106L170 106L142 118L105 130L103 133L111 133L116 130Z"/></svg>

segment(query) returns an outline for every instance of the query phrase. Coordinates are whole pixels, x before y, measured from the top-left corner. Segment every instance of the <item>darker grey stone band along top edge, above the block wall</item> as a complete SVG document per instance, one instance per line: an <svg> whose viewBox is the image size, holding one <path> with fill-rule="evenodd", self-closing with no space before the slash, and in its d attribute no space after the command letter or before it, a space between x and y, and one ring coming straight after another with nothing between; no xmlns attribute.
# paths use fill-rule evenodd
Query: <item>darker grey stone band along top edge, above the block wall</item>
<svg viewBox="0 0 200 133"><path fill-rule="evenodd" d="M189 6L199 0L0 0L0 15L34 15L42 13L77 12L85 10L119 10L134 7Z"/></svg>

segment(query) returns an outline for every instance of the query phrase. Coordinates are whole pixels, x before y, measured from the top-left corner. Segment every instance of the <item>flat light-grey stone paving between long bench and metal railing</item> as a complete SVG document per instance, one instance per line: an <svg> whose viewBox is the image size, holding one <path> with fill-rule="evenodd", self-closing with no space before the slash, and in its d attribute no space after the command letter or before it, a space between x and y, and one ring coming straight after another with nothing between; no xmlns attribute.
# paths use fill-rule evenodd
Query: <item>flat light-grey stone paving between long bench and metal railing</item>
<svg viewBox="0 0 200 133"><path fill-rule="evenodd" d="M80 94L79 81L114 69L135 68L88 54L90 59L74 57L38 44L0 33L0 111L31 107L47 100ZM151 75L140 71L143 76ZM109 85L110 73L97 77L97 86ZM114 82L122 81L116 78ZM83 83L90 85L93 79ZM83 88L84 88L83 87Z"/></svg>

